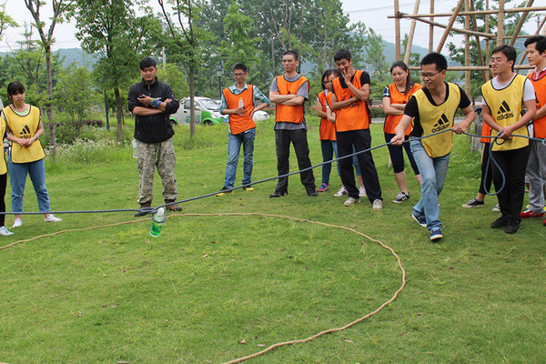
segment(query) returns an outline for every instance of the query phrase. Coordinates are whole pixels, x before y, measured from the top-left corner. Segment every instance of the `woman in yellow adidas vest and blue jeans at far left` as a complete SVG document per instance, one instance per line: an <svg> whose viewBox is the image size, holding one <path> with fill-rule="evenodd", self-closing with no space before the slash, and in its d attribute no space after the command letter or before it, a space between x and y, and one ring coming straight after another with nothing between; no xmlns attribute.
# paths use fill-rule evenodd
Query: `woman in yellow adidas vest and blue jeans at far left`
<svg viewBox="0 0 546 364"><path fill-rule="evenodd" d="M49 195L45 187L44 149L39 137L44 133L40 110L25 103L25 86L11 82L7 86L7 96L12 102L2 110L7 126L7 139L12 142L8 156L9 181L12 187L12 211L23 212L26 175L30 176L38 199L38 208L44 213L45 222L62 221L49 214ZM15 215L14 227L23 225L21 215Z"/></svg>

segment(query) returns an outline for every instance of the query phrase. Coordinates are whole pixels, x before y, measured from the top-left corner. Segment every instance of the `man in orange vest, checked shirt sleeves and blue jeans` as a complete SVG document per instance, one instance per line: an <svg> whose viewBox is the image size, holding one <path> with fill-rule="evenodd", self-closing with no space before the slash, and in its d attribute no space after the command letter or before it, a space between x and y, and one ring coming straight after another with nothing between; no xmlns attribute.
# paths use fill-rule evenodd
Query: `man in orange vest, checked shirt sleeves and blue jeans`
<svg viewBox="0 0 546 364"><path fill-rule="evenodd" d="M233 67L235 85L224 88L222 91L220 112L229 116L229 136L227 137L226 180L222 192L217 196L233 193L231 188L235 184L241 145L245 156L243 189L248 192L254 191L250 185L254 165L254 138L256 136L256 123L252 117L258 110L271 105L271 103L257 86L247 85L247 76L247 66L238 63Z"/></svg>

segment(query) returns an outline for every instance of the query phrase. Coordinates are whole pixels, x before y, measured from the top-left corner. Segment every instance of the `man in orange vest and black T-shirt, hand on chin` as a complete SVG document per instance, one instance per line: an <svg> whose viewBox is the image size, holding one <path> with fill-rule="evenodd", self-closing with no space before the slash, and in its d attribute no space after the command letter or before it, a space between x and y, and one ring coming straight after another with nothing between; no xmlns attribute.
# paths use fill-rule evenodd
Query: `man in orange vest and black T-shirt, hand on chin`
<svg viewBox="0 0 546 364"><path fill-rule="evenodd" d="M368 108L369 74L353 68L352 56L346 49L339 49L336 52L334 62L342 76L332 82L331 106L336 112L338 157L344 157L353 153L353 147L359 152L371 146L369 133L371 117ZM360 153L357 157L369 202L374 210L381 210L383 209L381 187L371 152ZM359 201L359 188L355 185L351 162L352 158L349 157L339 160L341 181L349 195L344 203L345 206L353 206Z"/></svg>

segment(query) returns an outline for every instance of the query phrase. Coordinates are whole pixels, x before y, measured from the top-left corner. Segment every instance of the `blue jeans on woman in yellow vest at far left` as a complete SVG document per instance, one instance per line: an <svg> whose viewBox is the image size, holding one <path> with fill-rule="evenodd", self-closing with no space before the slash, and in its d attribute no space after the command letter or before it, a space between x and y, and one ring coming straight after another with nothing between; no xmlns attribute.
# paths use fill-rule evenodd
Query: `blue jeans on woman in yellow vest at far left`
<svg viewBox="0 0 546 364"><path fill-rule="evenodd" d="M29 163L13 163L10 154L7 158L7 167L9 168L9 182L12 187L12 212L23 212L27 174L30 176L32 186L35 188L38 209L42 213L50 211L49 195L47 194L47 187L45 187L44 159Z"/></svg>

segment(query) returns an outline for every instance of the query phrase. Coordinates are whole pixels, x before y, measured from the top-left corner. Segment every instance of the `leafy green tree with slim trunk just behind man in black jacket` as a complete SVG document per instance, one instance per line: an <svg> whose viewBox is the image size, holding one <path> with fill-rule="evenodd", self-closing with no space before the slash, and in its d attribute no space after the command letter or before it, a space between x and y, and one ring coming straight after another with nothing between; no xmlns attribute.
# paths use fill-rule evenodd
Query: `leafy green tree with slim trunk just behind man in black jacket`
<svg viewBox="0 0 546 364"><path fill-rule="evenodd" d="M120 88L135 80L140 51L157 23L149 16L137 17L130 0L76 0L76 37L88 53L100 58L93 70L97 84L114 89L116 95L116 140L123 140L123 102ZM149 34L148 34L149 33Z"/></svg>

